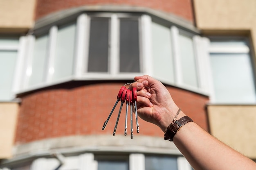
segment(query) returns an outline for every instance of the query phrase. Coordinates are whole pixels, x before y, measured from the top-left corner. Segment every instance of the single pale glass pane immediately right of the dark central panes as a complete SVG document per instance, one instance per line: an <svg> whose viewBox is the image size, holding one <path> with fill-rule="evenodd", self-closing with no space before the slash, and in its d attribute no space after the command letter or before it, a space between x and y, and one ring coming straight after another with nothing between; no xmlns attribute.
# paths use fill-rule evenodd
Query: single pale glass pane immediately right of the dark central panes
<svg viewBox="0 0 256 170"><path fill-rule="evenodd" d="M174 83L174 67L171 46L170 28L153 22L153 73L158 78Z"/></svg>

